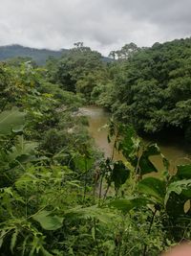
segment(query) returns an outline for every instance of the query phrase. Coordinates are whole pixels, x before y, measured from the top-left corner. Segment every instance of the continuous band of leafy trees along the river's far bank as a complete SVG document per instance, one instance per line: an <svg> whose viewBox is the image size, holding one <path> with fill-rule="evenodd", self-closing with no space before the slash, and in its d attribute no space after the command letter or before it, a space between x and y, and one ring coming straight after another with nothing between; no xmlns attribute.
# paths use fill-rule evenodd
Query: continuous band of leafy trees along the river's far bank
<svg viewBox="0 0 191 256"><path fill-rule="evenodd" d="M78 43L59 61L48 61L49 80L106 107L140 133L177 131L191 141L191 39L151 48L130 43L109 56L115 61L104 62Z"/></svg>

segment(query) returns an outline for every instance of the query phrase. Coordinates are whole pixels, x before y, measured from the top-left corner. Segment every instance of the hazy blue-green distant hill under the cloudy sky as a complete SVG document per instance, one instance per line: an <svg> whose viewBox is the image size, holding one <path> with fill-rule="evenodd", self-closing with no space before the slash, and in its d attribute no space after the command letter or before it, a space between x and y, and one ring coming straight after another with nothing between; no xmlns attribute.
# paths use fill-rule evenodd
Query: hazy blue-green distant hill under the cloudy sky
<svg viewBox="0 0 191 256"><path fill-rule="evenodd" d="M0 46L0 61L7 60L9 58L32 58L38 65L43 65L49 57L60 58L63 54L69 50L62 49L59 51L52 51L48 49L35 49L25 47L18 44L12 44L7 46ZM103 57L104 62L111 62L112 58Z"/></svg>

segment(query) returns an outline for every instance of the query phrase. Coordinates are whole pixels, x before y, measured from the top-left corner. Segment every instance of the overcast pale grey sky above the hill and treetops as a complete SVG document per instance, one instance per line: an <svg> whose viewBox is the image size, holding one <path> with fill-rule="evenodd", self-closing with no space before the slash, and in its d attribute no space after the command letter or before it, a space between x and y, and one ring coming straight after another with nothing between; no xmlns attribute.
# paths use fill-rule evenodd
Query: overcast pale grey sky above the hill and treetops
<svg viewBox="0 0 191 256"><path fill-rule="evenodd" d="M0 45L58 50L82 41L107 56L124 44L191 36L191 0L1 0Z"/></svg>

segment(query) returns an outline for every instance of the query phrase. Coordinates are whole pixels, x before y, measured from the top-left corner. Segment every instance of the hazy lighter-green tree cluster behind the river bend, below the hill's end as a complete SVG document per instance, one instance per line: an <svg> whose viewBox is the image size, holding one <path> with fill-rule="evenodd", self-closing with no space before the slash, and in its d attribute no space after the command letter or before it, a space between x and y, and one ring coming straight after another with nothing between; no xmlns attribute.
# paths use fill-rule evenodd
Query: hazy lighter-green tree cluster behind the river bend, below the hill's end
<svg viewBox="0 0 191 256"><path fill-rule="evenodd" d="M108 81L106 64L96 51L89 47L75 45L59 61L50 59L47 62L48 77L53 83L58 83L62 88L82 94L86 101L91 99L94 88Z"/></svg>

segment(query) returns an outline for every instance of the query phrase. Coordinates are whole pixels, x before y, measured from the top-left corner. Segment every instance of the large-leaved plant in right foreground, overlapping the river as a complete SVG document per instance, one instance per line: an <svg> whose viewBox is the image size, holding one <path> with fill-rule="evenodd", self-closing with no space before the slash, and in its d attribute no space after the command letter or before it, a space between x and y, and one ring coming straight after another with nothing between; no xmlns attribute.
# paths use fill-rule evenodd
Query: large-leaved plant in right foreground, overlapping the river
<svg viewBox="0 0 191 256"><path fill-rule="evenodd" d="M150 209L153 211L152 220L154 221L158 212L164 228L165 225L168 225L166 232L170 233L175 241L179 242L183 234L185 237L189 237L190 233L187 226L190 226L191 223L191 211L188 204L191 197L190 165L178 166L177 174L171 175L168 171L169 163L160 153L159 147L155 144L144 146L138 138L136 139L136 134L132 128L125 128L124 125L117 127L112 122L110 125L111 135L116 136L114 145L116 150L124 152L130 162L130 170L133 172L132 175L135 176L134 182L136 184L130 194L131 198L118 198L110 202L109 205L122 211L123 214L129 213L135 208L140 210L145 206L148 209L151 207ZM152 155L160 155L163 161L164 172L160 177L145 176L151 172L158 172L150 158ZM124 188L122 195L124 197ZM135 198L132 197L133 195ZM153 221L151 221L148 235L151 232ZM180 223L181 226L179 226ZM176 228L177 232L174 233ZM147 245L145 246L144 251L147 250Z"/></svg>

